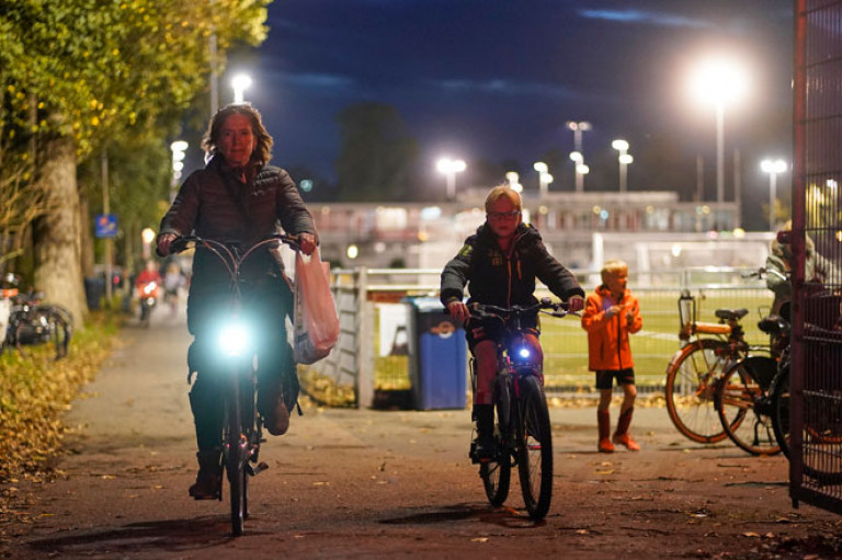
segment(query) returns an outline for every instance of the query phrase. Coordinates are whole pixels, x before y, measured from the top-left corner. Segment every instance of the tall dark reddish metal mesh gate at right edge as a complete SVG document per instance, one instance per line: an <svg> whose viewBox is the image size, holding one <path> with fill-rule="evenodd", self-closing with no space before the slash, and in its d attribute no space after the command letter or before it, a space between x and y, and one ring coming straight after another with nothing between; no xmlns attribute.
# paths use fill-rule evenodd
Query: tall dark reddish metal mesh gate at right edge
<svg viewBox="0 0 842 560"><path fill-rule="evenodd" d="M790 495L842 513L842 2L795 5Z"/></svg>

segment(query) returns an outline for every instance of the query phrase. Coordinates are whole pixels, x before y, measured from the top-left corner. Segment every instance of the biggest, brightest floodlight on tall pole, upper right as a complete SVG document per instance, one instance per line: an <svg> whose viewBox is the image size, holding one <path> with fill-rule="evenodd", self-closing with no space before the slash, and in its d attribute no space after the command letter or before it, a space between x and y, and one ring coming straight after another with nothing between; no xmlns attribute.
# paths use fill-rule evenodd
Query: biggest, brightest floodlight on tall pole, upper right
<svg viewBox="0 0 842 560"><path fill-rule="evenodd" d="M728 59L710 59L691 78L695 95L716 107L716 202L725 201L725 105L746 94L746 72Z"/></svg>

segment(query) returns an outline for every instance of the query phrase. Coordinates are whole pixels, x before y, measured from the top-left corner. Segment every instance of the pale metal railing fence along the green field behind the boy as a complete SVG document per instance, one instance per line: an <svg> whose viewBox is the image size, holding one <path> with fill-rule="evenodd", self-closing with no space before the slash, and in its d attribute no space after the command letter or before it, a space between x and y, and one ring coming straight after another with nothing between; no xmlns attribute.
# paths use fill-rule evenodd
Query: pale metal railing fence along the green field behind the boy
<svg viewBox="0 0 842 560"><path fill-rule="evenodd" d="M744 279L746 272L744 268L699 267L630 276L629 288L640 299L644 317L642 331L632 339L641 393L662 390L667 364L680 347L678 300L682 289L690 289L696 297L698 320L716 321L714 311L719 308L749 309L751 315L743 323L750 342L767 342L756 322L769 312L772 295L762 282ZM411 329L401 328L409 320L406 300L437 297L441 271L356 268L332 274L340 340L328 358L309 369L351 388L359 407L376 404L385 395L410 391L409 361L414 356L407 353L406 336ZM580 272L577 276L587 292L599 284L599 274ZM536 295L549 293L539 288ZM593 374L588 370L587 333L578 318L544 320L542 345L549 393L593 391ZM465 372L467 375L467 364Z"/></svg>

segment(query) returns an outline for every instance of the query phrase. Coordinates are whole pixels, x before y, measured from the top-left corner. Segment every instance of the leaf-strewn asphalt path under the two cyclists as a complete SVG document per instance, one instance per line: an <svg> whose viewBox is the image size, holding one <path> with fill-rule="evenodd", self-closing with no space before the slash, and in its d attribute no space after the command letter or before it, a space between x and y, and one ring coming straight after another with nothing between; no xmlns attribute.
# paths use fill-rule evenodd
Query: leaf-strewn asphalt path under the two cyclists
<svg viewBox="0 0 842 560"><path fill-rule="evenodd" d="M163 312L161 312L163 311ZM644 450L595 453L595 409L554 408L554 501L522 510L516 477L491 508L467 459L468 411L305 408L262 450L246 534L195 476L183 318L158 309L67 414L54 482L22 482L0 556L198 558L826 558L839 518L787 496L786 460L683 439L639 408ZM614 409L616 418L616 409ZM821 548L821 547L824 548Z"/></svg>

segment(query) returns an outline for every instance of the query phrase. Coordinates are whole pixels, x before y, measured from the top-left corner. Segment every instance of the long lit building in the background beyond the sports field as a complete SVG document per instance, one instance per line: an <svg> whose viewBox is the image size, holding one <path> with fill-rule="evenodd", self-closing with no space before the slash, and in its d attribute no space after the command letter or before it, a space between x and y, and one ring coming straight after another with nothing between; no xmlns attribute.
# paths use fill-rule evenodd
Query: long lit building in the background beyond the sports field
<svg viewBox="0 0 842 560"><path fill-rule="evenodd" d="M440 268L485 220L487 190L456 202L309 205L322 256L343 267ZM737 203L680 202L674 192L524 194L524 221L571 268L599 268L603 259L635 270L686 265L761 265L771 233L737 228Z"/></svg>

